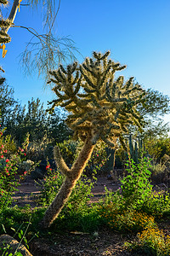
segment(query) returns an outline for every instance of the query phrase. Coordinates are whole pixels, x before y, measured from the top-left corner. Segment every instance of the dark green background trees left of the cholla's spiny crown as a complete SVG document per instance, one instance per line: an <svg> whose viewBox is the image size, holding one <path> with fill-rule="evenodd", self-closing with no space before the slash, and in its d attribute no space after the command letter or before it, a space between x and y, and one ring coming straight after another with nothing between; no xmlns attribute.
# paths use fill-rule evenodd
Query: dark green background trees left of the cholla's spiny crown
<svg viewBox="0 0 170 256"><path fill-rule="evenodd" d="M24 143L27 133L30 134L30 142L39 143L46 135L53 145L72 135L59 109L49 115L38 98L28 101L27 108L26 105L21 106L14 99L14 89L4 78L0 79L0 110L1 127L6 128L4 136L10 135L19 147Z"/></svg>

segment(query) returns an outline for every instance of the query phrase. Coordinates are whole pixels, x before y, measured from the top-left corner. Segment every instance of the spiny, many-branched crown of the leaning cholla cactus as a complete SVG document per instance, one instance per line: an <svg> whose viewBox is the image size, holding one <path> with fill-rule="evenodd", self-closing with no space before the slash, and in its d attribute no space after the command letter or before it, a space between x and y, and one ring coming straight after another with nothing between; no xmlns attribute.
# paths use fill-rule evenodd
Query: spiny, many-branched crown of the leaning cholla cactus
<svg viewBox="0 0 170 256"><path fill-rule="evenodd" d="M133 78L124 83L123 76L115 79L116 71L125 66L108 60L110 51L105 55L94 52L94 59L86 58L82 65L77 62L60 66L50 72L54 82L54 93L58 99L55 106L64 107L71 114L66 119L67 125L75 131L75 137L85 141L92 133L92 143L104 141L115 148L116 138L125 147L122 134L127 132L128 125L137 125L141 129L141 118L136 106L144 99L145 92Z"/></svg>

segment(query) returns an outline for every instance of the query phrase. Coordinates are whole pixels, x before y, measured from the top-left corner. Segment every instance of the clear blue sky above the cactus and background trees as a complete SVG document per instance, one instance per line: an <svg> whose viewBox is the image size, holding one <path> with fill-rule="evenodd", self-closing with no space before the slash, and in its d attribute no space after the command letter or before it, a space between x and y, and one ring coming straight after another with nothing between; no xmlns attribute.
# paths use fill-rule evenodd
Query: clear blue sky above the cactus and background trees
<svg viewBox="0 0 170 256"><path fill-rule="evenodd" d="M14 23L41 33L41 9L33 12L21 6ZM113 60L127 65L122 73L125 77L134 76L145 89L170 96L169 0L61 0L55 30L59 37L69 35L84 57L94 50L110 49ZM52 98L50 90L43 90L43 81L35 75L25 77L17 58L31 34L20 28L11 28L8 33L12 41L1 65L15 98L24 104L33 96L46 103ZM82 57L77 57L82 62Z"/></svg>

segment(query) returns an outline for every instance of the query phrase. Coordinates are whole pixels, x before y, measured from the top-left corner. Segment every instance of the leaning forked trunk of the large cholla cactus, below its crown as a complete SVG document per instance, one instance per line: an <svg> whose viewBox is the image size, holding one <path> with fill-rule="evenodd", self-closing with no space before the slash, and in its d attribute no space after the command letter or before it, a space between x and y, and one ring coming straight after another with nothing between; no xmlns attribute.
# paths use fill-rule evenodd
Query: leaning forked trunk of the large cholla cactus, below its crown
<svg viewBox="0 0 170 256"><path fill-rule="evenodd" d="M59 193L54 198L54 201L48 207L47 211L42 218L42 228L48 228L53 224L54 219L59 216L65 203L69 200L72 189L75 188L78 179L81 177L82 172L88 163L88 160L93 153L94 145L91 143L91 138L88 137L84 146L77 157L76 162L71 169L66 166L65 161L59 153L59 148L54 148L55 161L59 170L65 175L65 181L59 189Z"/></svg>

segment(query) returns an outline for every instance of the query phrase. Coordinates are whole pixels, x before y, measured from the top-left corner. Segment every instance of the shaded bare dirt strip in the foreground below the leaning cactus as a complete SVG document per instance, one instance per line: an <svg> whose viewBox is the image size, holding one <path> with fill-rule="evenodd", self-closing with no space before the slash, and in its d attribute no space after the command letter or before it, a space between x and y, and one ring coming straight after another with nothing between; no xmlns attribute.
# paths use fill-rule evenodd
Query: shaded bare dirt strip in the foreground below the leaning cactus
<svg viewBox="0 0 170 256"><path fill-rule="evenodd" d="M31 244L30 250L34 256L124 256L130 255L123 248L124 242L129 239L129 236L121 236L108 230L99 230L93 235L56 234L48 241L37 239Z"/></svg>

